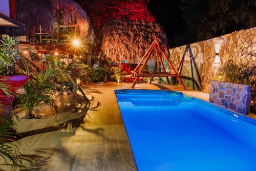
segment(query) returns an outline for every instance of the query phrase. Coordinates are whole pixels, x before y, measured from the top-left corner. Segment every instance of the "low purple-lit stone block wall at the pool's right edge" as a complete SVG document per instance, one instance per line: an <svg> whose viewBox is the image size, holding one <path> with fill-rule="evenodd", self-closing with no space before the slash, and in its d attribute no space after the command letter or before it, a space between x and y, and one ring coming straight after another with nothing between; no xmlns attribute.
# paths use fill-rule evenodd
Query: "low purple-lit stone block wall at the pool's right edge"
<svg viewBox="0 0 256 171"><path fill-rule="evenodd" d="M246 115L250 111L251 86L211 80L209 102Z"/></svg>

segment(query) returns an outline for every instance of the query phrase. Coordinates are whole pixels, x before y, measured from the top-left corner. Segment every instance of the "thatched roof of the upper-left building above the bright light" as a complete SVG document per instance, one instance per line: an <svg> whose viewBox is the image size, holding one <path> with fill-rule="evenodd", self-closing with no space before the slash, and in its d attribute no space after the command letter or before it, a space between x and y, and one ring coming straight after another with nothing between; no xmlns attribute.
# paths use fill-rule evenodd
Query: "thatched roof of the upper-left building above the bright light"
<svg viewBox="0 0 256 171"><path fill-rule="evenodd" d="M76 24L80 35L93 36L89 17L77 3L72 0L16 0L16 20L27 26L28 33L41 29L46 33L55 31L55 14L63 13L63 24Z"/></svg>

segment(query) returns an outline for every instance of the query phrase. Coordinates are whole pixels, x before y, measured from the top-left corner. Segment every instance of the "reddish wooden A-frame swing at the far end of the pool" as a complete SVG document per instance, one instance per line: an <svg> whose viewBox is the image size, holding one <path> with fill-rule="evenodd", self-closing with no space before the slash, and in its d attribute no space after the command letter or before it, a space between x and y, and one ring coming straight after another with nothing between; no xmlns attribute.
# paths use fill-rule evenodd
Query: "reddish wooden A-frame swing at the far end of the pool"
<svg viewBox="0 0 256 171"><path fill-rule="evenodd" d="M146 66L146 63L148 62L148 59L150 59L150 55L152 54L153 52L153 49L156 50L157 52L157 55L160 59L160 62L161 62L161 65L163 67L163 73L142 73L142 71L144 70L145 66ZM163 59L162 59L162 56L161 56L161 53L160 51L162 52L165 60L167 61L168 63L168 66L172 69L172 72L166 72L165 68L164 68L164 65L163 65ZM142 62L145 61L143 63L143 66L140 68ZM140 62L138 63L137 67L135 68L134 71L132 71L132 75L130 76L130 78L127 80L127 82L130 81L130 79L135 76L136 79L134 80L133 82L133 85L132 85L132 88L134 89L137 81L139 80L139 77L166 77L167 79L167 82L168 84L170 84L170 81L169 81L169 78L168 76L171 76L171 77L177 77L177 79L179 80L181 86L183 87L183 89L186 89L182 80L181 80L181 74L178 74L174 68L174 66L172 65L172 62L170 62L170 60L168 59L167 55L164 53L163 49L161 48L160 44L159 44L159 41L158 41L158 38L155 37L155 40L153 41L152 45L150 46L150 48L146 51L145 55L141 58Z"/></svg>

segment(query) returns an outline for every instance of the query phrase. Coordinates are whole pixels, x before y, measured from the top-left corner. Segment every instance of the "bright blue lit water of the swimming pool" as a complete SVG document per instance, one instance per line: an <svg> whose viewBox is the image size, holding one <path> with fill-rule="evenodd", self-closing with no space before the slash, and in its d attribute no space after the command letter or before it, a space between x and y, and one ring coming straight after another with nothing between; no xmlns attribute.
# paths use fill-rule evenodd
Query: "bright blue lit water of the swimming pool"
<svg viewBox="0 0 256 171"><path fill-rule="evenodd" d="M256 170L256 120L178 92L115 93L139 170Z"/></svg>

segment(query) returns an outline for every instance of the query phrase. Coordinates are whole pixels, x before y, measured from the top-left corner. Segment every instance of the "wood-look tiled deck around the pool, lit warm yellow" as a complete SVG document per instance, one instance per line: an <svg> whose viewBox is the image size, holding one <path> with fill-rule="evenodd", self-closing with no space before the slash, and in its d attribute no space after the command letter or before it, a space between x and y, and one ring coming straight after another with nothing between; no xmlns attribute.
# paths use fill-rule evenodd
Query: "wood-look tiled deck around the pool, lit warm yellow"
<svg viewBox="0 0 256 171"><path fill-rule="evenodd" d="M130 89L127 83L95 83L82 86L90 97L91 108L72 112L69 108L52 115L42 106L42 119L22 119L18 131L25 170L137 170L114 90ZM178 86L137 84L138 89L182 91ZM208 94L183 91L208 100ZM72 95L61 96L61 105L74 103ZM71 107L72 108L72 107ZM67 112L68 111L68 112Z"/></svg>

